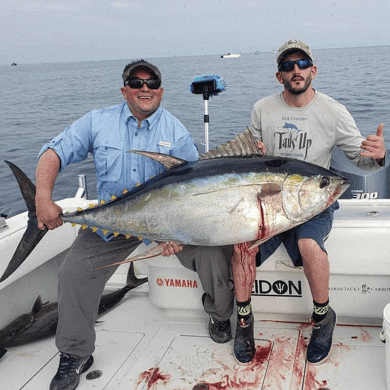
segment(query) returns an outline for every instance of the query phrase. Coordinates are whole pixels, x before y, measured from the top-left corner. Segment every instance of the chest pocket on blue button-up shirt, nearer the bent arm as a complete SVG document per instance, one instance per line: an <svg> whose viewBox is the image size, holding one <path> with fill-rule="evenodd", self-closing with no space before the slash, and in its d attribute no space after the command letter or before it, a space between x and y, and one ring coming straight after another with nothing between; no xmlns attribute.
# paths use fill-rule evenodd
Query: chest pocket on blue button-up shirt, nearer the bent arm
<svg viewBox="0 0 390 390"><path fill-rule="evenodd" d="M99 146L94 153L96 173L102 181L115 183L122 176L123 150L112 146Z"/></svg>

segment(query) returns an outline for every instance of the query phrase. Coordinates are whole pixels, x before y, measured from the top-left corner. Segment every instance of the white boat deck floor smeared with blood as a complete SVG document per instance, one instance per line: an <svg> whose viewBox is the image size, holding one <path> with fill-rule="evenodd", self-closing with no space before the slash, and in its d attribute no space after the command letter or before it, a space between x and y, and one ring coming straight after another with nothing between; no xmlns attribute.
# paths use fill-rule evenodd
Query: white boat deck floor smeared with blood
<svg viewBox="0 0 390 390"><path fill-rule="evenodd" d="M78 389L386 389L381 327L338 325L330 358L312 366L305 362L308 323L261 317L255 314L256 358L240 366L233 340L210 339L204 312L154 307L140 286L99 318L95 362ZM58 362L54 338L11 348L0 360L0 387L48 389Z"/></svg>

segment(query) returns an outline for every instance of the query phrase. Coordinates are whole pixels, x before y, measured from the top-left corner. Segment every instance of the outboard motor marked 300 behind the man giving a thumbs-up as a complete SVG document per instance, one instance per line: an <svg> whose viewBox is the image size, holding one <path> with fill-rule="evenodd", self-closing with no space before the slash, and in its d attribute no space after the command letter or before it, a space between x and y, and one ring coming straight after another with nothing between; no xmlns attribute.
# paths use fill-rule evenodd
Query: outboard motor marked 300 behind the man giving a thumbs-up
<svg viewBox="0 0 390 390"><path fill-rule="evenodd" d="M355 167L340 148L334 148L330 170L348 179L349 188L340 199L389 199L389 151L386 164L377 171L364 171Z"/></svg>

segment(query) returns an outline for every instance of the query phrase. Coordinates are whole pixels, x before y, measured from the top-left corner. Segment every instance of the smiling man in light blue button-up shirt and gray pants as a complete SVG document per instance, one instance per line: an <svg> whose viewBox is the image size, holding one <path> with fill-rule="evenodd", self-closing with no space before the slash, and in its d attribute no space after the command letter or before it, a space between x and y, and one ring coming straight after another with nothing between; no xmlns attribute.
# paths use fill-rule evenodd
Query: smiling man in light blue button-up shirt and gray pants
<svg viewBox="0 0 390 390"><path fill-rule="evenodd" d="M121 195L163 171L164 167L156 161L126 153L131 149L188 161L198 158L197 148L183 124L160 106L164 90L158 68L144 60L135 61L125 67L122 79L125 103L89 112L42 147L35 198L40 229L52 230L62 225L62 209L52 201L57 175L67 165L86 159L89 153L94 157L99 201ZM116 270L97 268L125 259L139 244L138 238L80 229L59 273L56 346L61 355L51 390L75 389L80 374L93 363L94 323L100 297ZM219 343L230 340L233 292L227 284L214 285L213 280L230 279L232 247L165 243L163 256L172 254L199 274L205 290L204 309L210 315L211 338ZM223 312L217 309L220 307L225 308Z"/></svg>

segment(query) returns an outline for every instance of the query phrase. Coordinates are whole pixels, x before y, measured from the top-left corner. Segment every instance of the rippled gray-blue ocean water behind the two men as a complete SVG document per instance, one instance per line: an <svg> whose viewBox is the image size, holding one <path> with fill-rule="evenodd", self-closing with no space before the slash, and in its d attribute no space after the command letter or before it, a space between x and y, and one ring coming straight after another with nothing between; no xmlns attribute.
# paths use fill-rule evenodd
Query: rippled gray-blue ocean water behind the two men
<svg viewBox="0 0 390 390"><path fill-rule="evenodd" d="M314 50L313 54L318 66L314 87L344 104L363 135L385 123L389 148L390 46ZM202 95L189 90L196 76L217 74L227 84L225 91L208 102L210 149L245 130L257 100L282 90L275 78L274 53L246 53L237 59L221 59L220 55L145 59L161 70L163 107L187 127L200 152L204 151L205 102ZM34 182L37 154L43 144L88 111L123 102L121 74L131 60L0 66L1 214L13 216L26 210L3 161L18 165ZM89 157L60 173L54 200L74 196L79 174L87 175L89 197L96 198Z"/></svg>

